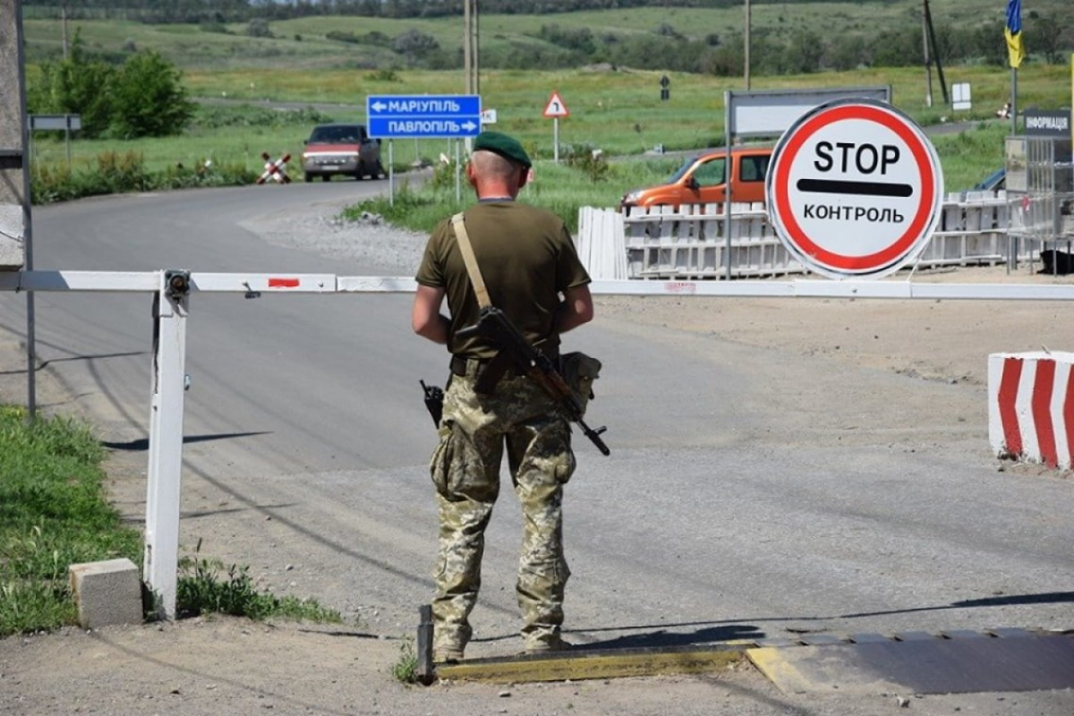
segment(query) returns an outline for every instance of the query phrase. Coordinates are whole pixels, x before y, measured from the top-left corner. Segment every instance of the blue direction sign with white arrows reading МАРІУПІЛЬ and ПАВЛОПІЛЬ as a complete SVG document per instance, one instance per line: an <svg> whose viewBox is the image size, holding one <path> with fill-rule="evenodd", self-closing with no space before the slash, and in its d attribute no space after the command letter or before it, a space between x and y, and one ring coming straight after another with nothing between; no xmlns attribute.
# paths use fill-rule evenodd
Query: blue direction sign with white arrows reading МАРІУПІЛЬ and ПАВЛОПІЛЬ
<svg viewBox="0 0 1074 716"><path fill-rule="evenodd" d="M371 94L365 98L369 136L383 140L477 136L478 94Z"/></svg>

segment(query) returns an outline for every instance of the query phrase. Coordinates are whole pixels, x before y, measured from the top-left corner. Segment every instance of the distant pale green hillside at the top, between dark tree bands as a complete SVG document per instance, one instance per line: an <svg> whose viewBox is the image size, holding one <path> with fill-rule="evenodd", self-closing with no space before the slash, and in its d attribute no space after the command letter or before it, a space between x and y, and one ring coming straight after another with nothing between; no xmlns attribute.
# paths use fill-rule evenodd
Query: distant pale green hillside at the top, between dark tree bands
<svg viewBox="0 0 1074 716"><path fill-rule="evenodd" d="M1002 24L1003 0L933 0L930 4L938 28L976 28ZM1024 11L1027 44L1034 48L1035 18L1049 18L1063 28L1064 46L1074 48L1074 6L1070 0L1034 0ZM752 5L755 39L775 43L796 33L815 33L822 39L860 36L881 31L918 30L920 0L860 0L859 2L770 2ZM55 19L25 21L30 61L61 53L62 27ZM556 47L540 40L541 28L558 26L567 30L589 29L594 35L621 38L653 35L657 31L683 41L703 41L719 35L724 42L744 29L742 8L688 9L641 8L550 15L481 15L480 45L484 56L494 57L512 48ZM462 19L459 17L394 19L384 17L318 16L273 21L274 38L246 35L247 26L143 25L125 20L77 20L69 23L69 34L77 27L87 46L114 56L131 47L153 47L172 62L188 70L235 68L373 68L398 64L401 58L375 42L340 42L330 33L350 33L362 40L374 36L395 39L417 30L434 38L448 55L461 53ZM206 30L226 30L220 31ZM1001 38L997 39L1001 44Z"/></svg>

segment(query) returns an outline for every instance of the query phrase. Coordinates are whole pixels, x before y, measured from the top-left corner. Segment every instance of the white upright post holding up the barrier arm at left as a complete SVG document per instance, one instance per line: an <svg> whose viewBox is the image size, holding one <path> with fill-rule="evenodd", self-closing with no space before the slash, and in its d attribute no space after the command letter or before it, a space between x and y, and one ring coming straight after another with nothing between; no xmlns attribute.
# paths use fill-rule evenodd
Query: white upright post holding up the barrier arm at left
<svg viewBox="0 0 1074 716"><path fill-rule="evenodd" d="M185 272L163 272L160 276L161 287L153 301L154 364L143 574L157 599L157 615L174 619L190 277Z"/></svg>

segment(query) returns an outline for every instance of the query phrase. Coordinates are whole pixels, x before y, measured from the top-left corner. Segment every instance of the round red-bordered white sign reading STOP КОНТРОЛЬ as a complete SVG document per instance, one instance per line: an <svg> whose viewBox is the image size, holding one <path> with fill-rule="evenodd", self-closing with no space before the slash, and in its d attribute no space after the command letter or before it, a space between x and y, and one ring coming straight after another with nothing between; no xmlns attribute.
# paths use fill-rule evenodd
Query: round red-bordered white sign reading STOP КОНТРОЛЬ
<svg viewBox="0 0 1074 716"><path fill-rule="evenodd" d="M940 219L943 173L921 129L867 99L814 107L780 137L766 178L787 250L830 278L879 278L913 260Z"/></svg>

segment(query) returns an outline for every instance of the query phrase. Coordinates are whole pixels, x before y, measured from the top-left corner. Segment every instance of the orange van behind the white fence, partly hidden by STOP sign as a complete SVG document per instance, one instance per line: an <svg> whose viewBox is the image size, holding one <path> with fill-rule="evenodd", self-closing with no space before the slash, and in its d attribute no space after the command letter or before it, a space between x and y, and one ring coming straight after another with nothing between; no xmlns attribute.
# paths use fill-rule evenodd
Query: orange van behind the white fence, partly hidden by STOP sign
<svg viewBox="0 0 1074 716"><path fill-rule="evenodd" d="M772 147L735 147L732 202L764 202L765 175L772 158ZM626 206L659 206L682 204L714 204L724 201L726 192L727 150L714 149L687 159L664 184L635 189L623 195L620 208Z"/></svg>

